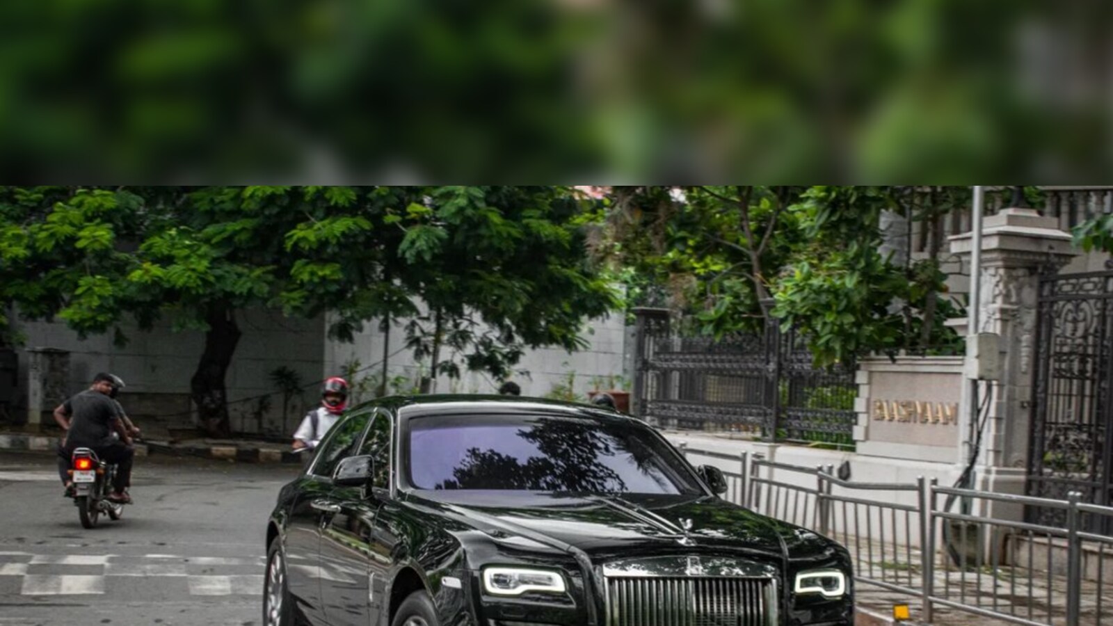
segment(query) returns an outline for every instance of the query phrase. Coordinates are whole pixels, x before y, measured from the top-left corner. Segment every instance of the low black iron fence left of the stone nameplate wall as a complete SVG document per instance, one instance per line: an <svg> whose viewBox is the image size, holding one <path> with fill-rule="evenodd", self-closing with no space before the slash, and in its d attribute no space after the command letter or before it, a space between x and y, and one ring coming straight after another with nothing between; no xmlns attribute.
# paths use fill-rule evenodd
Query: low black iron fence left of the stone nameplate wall
<svg viewBox="0 0 1113 626"><path fill-rule="evenodd" d="M776 320L764 333L710 339L676 336L667 310L636 314L638 417L682 429L854 446L854 363L814 366L804 341Z"/></svg>

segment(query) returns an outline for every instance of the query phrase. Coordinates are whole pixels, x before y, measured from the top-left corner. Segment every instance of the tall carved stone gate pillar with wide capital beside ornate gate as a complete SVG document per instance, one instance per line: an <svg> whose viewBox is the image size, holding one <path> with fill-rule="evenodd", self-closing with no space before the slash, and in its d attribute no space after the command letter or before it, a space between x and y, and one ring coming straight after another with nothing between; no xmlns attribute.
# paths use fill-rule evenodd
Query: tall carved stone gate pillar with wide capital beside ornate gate
<svg viewBox="0 0 1113 626"><path fill-rule="evenodd" d="M1058 228L1057 219L1043 217L1032 208L1006 208L985 217L983 224L981 302L976 304L979 327L968 332L999 335L1001 375L988 407L977 487L1023 492L1033 410L1040 274L1062 268L1077 252L1072 250L1071 235ZM972 233L951 237L951 251L967 267L972 248ZM964 440L967 436L962 433Z"/></svg>

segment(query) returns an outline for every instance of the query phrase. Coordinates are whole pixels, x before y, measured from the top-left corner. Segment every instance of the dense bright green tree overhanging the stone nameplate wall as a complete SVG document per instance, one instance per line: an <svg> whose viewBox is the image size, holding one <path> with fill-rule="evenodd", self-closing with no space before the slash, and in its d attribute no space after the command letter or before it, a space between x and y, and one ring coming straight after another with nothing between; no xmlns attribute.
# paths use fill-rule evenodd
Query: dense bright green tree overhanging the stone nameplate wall
<svg viewBox="0 0 1113 626"><path fill-rule="evenodd" d="M956 312L942 295L946 276L938 260L898 265L881 253L881 214L900 212L899 197L907 192L814 186L792 207L808 243L786 268L774 314L806 338L817 364L961 341L943 324ZM934 190L929 198L922 211L933 221L954 207Z"/></svg>

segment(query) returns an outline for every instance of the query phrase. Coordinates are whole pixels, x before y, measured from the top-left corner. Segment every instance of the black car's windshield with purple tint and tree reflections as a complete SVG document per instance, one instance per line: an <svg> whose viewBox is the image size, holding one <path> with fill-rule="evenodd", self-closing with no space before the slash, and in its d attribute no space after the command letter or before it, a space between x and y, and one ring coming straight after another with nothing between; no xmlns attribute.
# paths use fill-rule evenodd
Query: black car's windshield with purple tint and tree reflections
<svg viewBox="0 0 1113 626"><path fill-rule="evenodd" d="M699 493L648 428L577 418L482 415L408 420L410 483L427 490Z"/></svg>

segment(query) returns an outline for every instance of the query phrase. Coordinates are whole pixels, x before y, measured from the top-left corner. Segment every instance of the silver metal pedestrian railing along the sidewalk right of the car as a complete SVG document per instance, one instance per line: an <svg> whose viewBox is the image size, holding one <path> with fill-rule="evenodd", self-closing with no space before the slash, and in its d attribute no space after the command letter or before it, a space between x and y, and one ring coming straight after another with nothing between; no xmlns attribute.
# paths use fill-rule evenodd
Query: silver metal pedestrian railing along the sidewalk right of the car
<svg viewBox="0 0 1113 626"><path fill-rule="evenodd" d="M723 469L723 498L840 541L855 580L918 600L919 618L964 612L1026 626L1113 620L1113 537L1089 516L1113 508L916 482L855 482L833 466L767 461L680 446ZM699 462L699 461L697 461ZM884 496L881 496L884 493ZM1027 524L1024 507L1063 510L1063 527ZM1008 509L1013 510L1009 511Z"/></svg>

